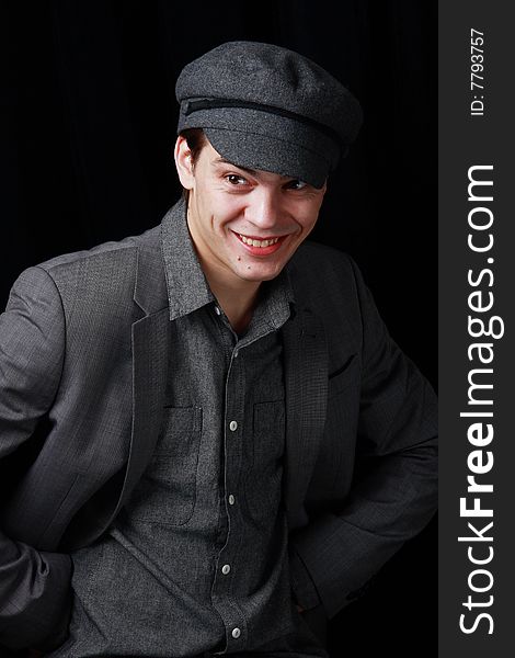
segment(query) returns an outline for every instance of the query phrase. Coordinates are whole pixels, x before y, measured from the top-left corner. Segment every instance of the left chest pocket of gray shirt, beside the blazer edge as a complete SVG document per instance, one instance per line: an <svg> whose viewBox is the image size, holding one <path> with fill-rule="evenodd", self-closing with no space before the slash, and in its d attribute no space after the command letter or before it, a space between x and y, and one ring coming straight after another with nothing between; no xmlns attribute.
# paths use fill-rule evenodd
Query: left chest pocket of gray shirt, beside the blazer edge
<svg viewBox="0 0 515 658"><path fill-rule="evenodd" d="M201 407L165 407L156 449L133 499L142 521L184 525L195 510Z"/></svg>

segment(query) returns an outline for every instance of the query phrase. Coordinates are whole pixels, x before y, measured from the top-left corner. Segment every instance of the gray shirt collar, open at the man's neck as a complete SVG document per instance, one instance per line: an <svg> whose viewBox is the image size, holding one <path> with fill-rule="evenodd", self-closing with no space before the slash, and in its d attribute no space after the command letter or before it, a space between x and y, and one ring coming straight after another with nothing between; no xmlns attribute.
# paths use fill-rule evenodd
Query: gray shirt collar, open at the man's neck
<svg viewBox="0 0 515 658"><path fill-rule="evenodd" d="M167 213L161 223L161 248L171 320L216 302L190 236L183 198ZM289 304L295 303L287 268L272 281L262 284L260 299L256 308L259 317L266 317L274 329L278 329L289 317Z"/></svg>

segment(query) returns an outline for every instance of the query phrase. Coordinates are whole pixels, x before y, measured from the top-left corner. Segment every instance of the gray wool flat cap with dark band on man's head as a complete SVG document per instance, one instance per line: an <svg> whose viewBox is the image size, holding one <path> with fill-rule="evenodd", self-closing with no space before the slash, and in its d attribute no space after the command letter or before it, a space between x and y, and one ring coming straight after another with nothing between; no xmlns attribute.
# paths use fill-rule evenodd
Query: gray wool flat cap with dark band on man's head
<svg viewBox="0 0 515 658"><path fill-rule="evenodd" d="M272 44L229 42L187 64L175 94L178 133L203 128L247 169L321 188L362 124L357 100L323 68Z"/></svg>

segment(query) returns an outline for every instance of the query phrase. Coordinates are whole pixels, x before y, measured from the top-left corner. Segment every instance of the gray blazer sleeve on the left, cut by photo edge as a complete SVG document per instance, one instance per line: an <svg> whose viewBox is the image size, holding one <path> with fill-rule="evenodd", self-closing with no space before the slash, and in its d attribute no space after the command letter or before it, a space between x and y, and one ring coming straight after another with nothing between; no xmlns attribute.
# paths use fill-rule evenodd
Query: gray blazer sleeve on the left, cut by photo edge
<svg viewBox="0 0 515 658"><path fill-rule="evenodd" d="M50 408L64 353L59 293L45 270L31 268L0 315L0 467ZM59 646L68 631L70 577L68 555L36 551L0 529L0 645Z"/></svg>

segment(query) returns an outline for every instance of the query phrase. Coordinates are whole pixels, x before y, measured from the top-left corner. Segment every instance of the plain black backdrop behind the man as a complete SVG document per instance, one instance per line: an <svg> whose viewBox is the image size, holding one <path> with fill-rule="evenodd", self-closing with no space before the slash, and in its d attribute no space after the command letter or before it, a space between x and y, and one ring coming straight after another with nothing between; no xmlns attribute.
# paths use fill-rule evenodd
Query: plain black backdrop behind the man
<svg viewBox="0 0 515 658"><path fill-rule="evenodd" d="M365 124L312 239L350 252L436 387L436 3L157 0L0 4L0 303L26 266L142 232L180 193L182 67L231 39L310 57ZM437 654L436 521L330 627L332 656Z"/></svg>

